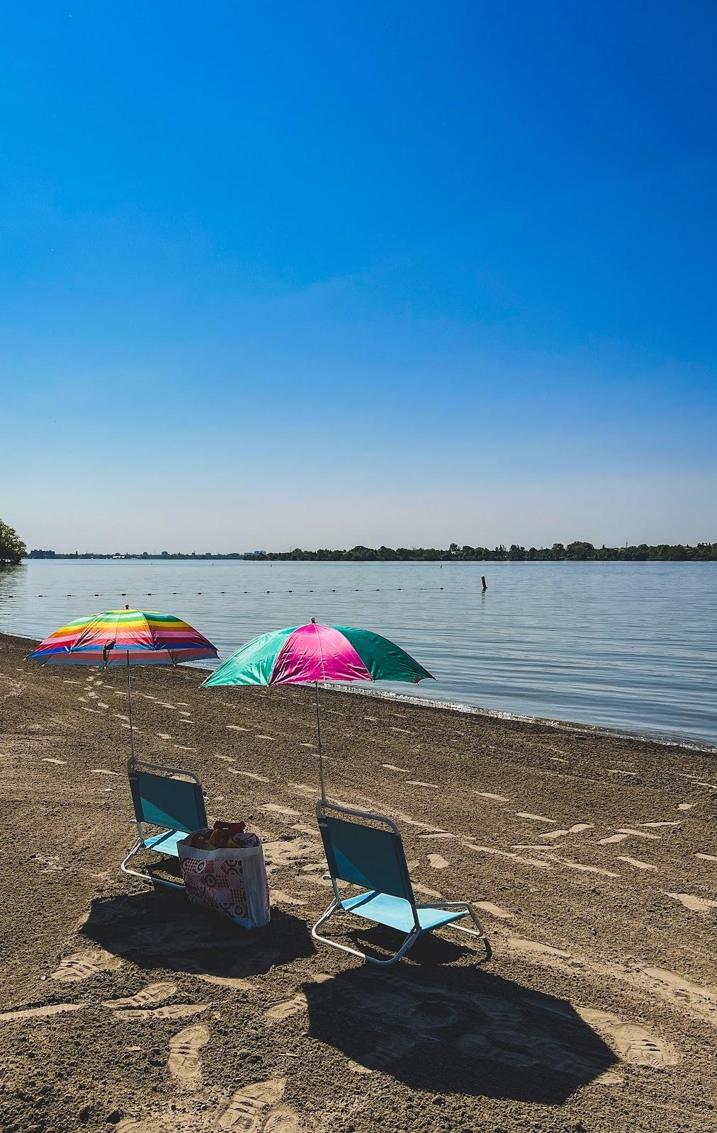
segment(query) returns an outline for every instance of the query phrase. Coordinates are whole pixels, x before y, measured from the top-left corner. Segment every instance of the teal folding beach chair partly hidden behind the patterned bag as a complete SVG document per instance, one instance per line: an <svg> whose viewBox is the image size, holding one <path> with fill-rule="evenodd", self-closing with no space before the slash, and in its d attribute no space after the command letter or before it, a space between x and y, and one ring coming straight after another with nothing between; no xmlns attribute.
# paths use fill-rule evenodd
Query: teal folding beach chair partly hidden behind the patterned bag
<svg viewBox="0 0 717 1133"><path fill-rule="evenodd" d="M177 842L208 825L202 784L192 772L133 759L127 763L127 774L140 837L120 869L124 874L140 877L152 885L182 889L184 886L180 881L170 881L142 874L136 869L128 869L127 862L140 850L152 850L154 853L169 854L172 858L179 857ZM160 827L159 834L147 836L146 826Z"/></svg>

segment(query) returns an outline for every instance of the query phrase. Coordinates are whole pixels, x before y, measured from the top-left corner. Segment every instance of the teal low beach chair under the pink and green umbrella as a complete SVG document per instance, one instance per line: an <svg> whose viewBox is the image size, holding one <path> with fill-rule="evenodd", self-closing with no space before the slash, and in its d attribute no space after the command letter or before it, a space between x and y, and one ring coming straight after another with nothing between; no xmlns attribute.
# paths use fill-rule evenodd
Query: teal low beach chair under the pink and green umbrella
<svg viewBox="0 0 717 1133"><path fill-rule="evenodd" d="M380 823L388 829L348 821L338 817L341 815ZM423 932L450 926L482 940L486 959L490 960L492 955L490 944L470 901L416 904L400 832L390 818L349 810L335 802L320 801L317 803L317 820L334 885L334 901L311 930L314 940L330 944L334 948L340 948L341 952L348 952L352 956L358 956L369 963L388 965L400 960ZM341 897L337 881L361 886L363 892L352 897ZM321 926L338 912L352 913L354 917L394 928L405 934L405 940L390 960L376 960L364 952L358 952L357 948L320 936L318 930ZM463 917L470 917L474 928L457 925L456 921Z"/></svg>

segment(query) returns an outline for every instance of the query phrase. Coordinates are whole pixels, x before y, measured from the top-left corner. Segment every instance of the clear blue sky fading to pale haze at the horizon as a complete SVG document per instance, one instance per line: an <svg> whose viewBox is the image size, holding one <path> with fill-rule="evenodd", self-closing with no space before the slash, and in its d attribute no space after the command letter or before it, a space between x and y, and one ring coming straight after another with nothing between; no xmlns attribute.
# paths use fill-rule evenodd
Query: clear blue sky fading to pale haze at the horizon
<svg viewBox="0 0 717 1133"><path fill-rule="evenodd" d="M15 6L32 546L717 538L714 3Z"/></svg>

